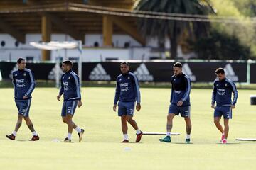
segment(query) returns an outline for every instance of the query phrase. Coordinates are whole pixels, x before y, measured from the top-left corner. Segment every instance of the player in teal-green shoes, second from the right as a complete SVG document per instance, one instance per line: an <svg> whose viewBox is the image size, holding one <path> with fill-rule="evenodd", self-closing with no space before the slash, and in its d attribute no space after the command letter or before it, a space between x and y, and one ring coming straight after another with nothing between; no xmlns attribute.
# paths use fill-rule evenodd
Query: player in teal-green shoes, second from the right
<svg viewBox="0 0 256 170"><path fill-rule="evenodd" d="M174 64L174 75L171 77L171 104L169 106L169 114L167 115L166 137L159 139L161 142L171 142L171 128L173 127L173 119L175 115L181 113L181 117L186 122L186 143L190 143L191 135L191 118L190 118L190 99L191 91L190 78L182 73L182 64L176 62Z"/></svg>

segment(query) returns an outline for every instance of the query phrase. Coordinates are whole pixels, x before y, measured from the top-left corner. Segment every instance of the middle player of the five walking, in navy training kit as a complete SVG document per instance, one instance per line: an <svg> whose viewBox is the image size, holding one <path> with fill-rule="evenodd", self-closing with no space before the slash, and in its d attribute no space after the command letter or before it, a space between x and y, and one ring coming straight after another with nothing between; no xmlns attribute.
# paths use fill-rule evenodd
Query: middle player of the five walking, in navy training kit
<svg viewBox="0 0 256 170"><path fill-rule="evenodd" d="M119 101L118 115L121 117L122 132L124 135L124 140L122 142L129 142L129 138L127 135L127 121L129 124L132 125L134 130L136 130L137 137L135 142L139 142L142 139L143 132L139 130L137 123L132 118L134 115L135 101L137 101L137 111L141 109L139 81L135 74L129 72L129 64L127 62L122 62L120 64L120 69L122 74L117 77L117 86L114 96L113 110L117 110L117 102Z"/></svg>

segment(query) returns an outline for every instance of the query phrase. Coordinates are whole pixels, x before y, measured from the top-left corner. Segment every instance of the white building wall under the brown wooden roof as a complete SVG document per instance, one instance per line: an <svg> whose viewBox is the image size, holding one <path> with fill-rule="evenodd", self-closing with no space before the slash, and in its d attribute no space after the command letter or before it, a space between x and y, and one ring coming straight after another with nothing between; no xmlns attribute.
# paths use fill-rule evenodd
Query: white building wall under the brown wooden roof
<svg viewBox="0 0 256 170"><path fill-rule="evenodd" d="M51 40L55 41L71 41L74 40L69 35L53 34ZM167 39L168 40L168 39ZM26 44L19 44L15 46L16 40L8 34L0 34L0 43L5 41L6 45L0 45L0 60L16 61L18 57L34 57L34 60L41 60L41 50L37 50L29 42L41 41L41 34L27 34ZM93 47L94 43L98 42L99 47ZM124 48L124 43L129 42L129 48ZM107 58L117 58L121 60L146 60L149 57L158 55L151 53L151 47L157 47L158 41L156 38L148 38L146 40L146 47L142 47L136 40L129 35L113 35L114 48L102 48L102 35L85 35L85 45L82 50L82 59L84 62L105 61ZM166 46L169 47L169 41L166 41ZM182 55L181 50L178 54ZM78 50L59 50L52 51L51 60L55 57L61 56L64 59L68 57L78 57Z"/></svg>

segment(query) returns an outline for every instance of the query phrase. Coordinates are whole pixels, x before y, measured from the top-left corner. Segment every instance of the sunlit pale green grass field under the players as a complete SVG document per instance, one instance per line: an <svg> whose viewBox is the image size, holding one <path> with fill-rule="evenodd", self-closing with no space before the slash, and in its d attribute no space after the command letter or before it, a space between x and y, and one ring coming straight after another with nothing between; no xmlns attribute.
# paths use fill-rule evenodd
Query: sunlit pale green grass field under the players
<svg viewBox="0 0 256 170"><path fill-rule="evenodd" d="M142 110L135 113L144 132L165 132L170 89L141 89ZM183 144L186 130L183 118L174 119L172 142L161 143L159 136L144 136L134 143L135 131L129 126L129 140L123 144L120 120L112 111L114 88L82 88L82 108L74 121L85 128L85 139L62 141L67 127L62 123L62 101L58 89L37 88L33 92L30 116L41 140L30 142L31 132L23 122L16 141L5 135L14 130L16 106L13 89L0 89L0 169L255 169L256 142L238 142L236 137L256 138L256 106L250 106L252 90L238 91L238 104L230 121L228 145L220 144L220 132L213 123L211 90L192 89L191 141ZM161 137L161 136L160 136Z"/></svg>

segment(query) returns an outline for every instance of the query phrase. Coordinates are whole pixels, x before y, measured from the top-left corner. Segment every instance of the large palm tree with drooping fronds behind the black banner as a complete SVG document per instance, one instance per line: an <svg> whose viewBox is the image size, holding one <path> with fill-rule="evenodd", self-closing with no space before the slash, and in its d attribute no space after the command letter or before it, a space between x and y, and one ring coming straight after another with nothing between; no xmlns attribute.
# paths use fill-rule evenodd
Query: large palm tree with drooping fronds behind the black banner
<svg viewBox="0 0 256 170"><path fill-rule="evenodd" d="M140 11L154 11L164 13L186 13L207 15L214 13L208 0L139 0L134 8ZM144 37L157 37L163 42L166 36L171 43L171 58L177 57L178 40L185 30L193 35L206 35L208 23L191 21L160 20L152 18L139 18L139 30Z"/></svg>

